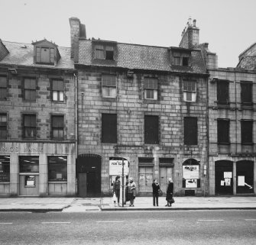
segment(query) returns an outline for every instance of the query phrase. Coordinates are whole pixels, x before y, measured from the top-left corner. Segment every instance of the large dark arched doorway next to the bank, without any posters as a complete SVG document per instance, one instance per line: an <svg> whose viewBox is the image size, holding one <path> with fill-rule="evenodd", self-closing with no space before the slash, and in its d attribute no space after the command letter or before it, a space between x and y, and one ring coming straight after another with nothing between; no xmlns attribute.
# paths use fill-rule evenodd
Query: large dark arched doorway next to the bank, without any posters
<svg viewBox="0 0 256 245"><path fill-rule="evenodd" d="M101 156L79 155L76 162L77 194L79 197L96 197L101 194Z"/></svg>

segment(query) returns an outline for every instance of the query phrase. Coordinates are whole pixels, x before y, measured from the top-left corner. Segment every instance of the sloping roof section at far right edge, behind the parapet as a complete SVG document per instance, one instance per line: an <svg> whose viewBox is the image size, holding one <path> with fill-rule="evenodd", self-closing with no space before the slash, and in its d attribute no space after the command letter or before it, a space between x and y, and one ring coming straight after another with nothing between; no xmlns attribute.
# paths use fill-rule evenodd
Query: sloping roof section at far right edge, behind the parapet
<svg viewBox="0 0 256 245"><path fill-rule="evenodd" d="M256 70L256 43L239 55L238 66L244 69Z"/></svg>

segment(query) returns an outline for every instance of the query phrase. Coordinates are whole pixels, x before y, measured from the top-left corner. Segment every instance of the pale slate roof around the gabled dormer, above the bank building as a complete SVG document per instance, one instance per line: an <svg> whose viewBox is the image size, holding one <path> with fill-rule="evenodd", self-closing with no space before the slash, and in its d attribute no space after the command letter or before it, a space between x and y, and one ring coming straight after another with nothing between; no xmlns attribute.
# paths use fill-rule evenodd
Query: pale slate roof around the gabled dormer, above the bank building
<svg viewBox="0 0 256 245"><path fill-rule="evenodd" d="M15 66L34 66L52 69L74 69L73 60L70 59L70 47L58 47L60 60L57 66L34 63L34 45L2 41L9 53L0 64ZM26 47L26 48L24 48Z"/></svg>

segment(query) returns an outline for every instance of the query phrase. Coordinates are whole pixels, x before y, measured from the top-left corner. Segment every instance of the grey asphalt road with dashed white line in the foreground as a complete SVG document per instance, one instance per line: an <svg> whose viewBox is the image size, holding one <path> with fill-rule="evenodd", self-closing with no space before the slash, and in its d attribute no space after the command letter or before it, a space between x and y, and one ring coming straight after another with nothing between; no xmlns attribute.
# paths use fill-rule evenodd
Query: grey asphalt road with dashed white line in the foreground
<svg viewBox="0 0 256 245"><path fill-rule="evenodd" d="M0 213L0 244L256 244L256 211Z"/></svg>

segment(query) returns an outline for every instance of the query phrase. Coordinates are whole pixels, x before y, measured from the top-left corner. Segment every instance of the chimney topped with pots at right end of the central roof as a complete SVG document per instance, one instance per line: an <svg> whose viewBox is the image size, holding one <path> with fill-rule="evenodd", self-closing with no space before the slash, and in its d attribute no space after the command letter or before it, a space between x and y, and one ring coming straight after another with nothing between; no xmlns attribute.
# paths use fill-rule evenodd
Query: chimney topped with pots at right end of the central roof
<svg viewBox="0 0 256 245"><path fill-rule="evenodd" d="M181 41L179 47L193 49L199 44L199 28L196 27L196 20L189 18L181 34Z"/></svg>

